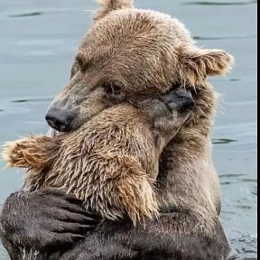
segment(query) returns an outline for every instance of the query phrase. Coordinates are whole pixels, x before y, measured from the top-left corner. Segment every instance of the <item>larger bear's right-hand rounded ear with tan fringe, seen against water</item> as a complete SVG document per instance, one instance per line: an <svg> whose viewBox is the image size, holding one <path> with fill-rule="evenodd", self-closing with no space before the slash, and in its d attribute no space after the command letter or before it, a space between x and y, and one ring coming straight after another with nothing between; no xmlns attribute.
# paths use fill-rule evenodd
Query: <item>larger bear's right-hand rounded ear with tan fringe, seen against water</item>
<svg viewBox="0 0 260 260"><path fill-rule="evenodd" d="M207 76L225 75L231 69L233 57L226 51L200 50L179 51L180 76L191 86L202 83Z"/></svg>

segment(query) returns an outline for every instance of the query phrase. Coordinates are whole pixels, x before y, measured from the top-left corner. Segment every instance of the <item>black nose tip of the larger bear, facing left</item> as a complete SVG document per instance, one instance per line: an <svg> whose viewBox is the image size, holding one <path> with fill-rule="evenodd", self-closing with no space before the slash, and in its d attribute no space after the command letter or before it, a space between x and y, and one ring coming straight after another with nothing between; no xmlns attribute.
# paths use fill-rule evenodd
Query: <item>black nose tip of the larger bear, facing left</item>
<svg viewBox="0 0 260 260"><path fill-rule="evenodd" d="M51 128L59 132L70 132L72 129L72 119L66 111L60 109L49 109L45 119Z"/></svg>

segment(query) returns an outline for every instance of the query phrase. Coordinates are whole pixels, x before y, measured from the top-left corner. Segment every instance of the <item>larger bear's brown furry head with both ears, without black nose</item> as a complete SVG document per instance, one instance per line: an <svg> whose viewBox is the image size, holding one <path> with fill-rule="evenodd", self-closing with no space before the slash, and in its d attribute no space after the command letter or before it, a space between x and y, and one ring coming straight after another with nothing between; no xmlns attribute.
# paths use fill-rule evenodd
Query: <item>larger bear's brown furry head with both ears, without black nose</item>
<svg viewBox="0 0 260 260"><path fill-rule="evenodd" d="M172 85L198 89L208 75L228 71L232 58L227 52L199 49L171 16L130 8L127 0L102 3L80 42L70 82L49 109L72 116L70 129L125 100L151 98ZM109 91L111 86L119 93Z"/></svg>

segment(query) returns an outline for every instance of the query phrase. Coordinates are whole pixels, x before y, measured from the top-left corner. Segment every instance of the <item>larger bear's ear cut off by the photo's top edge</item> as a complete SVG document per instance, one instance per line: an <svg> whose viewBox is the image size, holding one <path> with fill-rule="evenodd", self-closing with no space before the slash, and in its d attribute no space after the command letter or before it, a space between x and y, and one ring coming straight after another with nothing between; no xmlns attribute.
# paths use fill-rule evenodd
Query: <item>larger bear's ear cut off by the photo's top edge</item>
<svg viewBox="0 0 260 260"><path fill-rule="evenodd" d="M101 7L95 15L95 21L105 17L111 11L133 7L133 0L98 0L98 3Z"/></svg>

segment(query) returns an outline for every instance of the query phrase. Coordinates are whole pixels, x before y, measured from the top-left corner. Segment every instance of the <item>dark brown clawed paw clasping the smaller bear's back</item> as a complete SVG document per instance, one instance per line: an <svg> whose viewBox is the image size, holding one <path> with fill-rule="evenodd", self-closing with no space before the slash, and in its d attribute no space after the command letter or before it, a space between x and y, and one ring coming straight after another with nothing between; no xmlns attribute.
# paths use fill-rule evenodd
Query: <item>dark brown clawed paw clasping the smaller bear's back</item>
<svg viewBox="0 0 260 260"><path fill-rule="evenodd" d="M81 204L60 189L12 193L0 209L0 238L11 259L22 259L24 248L51 252L84 238L100 219Z"/></svg>

